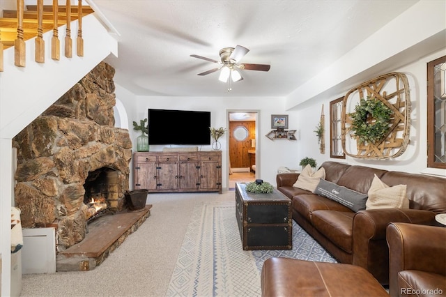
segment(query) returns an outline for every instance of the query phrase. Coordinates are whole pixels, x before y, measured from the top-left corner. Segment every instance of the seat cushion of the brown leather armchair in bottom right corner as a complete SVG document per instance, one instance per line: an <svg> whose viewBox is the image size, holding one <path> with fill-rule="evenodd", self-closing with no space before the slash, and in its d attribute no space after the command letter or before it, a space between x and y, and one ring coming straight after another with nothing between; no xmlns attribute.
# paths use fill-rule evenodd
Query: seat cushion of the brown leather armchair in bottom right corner
<svg viewBox="0 0 446 297"><path fill-rule="evenodd" d="M434 289L446 292L446 277L426 271L400 271L398 273L398 285L400 296L440 296ZM431 289L432 292L427 290ZM415 294L415 290L420 290L421 294ZM424 292L422 290L426 290Z"/></svg>

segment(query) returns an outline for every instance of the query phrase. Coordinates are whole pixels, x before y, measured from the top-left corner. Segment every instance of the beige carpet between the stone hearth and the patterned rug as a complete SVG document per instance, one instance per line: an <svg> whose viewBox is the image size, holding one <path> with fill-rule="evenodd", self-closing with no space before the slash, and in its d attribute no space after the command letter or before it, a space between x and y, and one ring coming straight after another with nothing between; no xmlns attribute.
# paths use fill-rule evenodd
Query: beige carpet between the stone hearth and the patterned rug
<svg viewBox="0 0 446 297"><path fill-rule="evenodd" d="M234 192L149 194L151 216L93 271L23 275L21 296L165 296L194 206Z"/></svg>

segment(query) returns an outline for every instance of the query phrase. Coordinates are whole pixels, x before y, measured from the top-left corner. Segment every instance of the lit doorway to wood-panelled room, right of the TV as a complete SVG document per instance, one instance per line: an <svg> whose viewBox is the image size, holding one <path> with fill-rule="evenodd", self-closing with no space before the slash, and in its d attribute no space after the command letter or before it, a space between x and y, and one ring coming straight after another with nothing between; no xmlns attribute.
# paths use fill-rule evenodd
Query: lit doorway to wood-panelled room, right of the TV
<svg viewBox="0 0 446 297"><path fill-rule="evenodd" d="M250 182L256 179L258 172L257 160L259 149L256 148L258 140L257 111L231 111L228 112L228 188L235 188L236 182Z"/></svg>

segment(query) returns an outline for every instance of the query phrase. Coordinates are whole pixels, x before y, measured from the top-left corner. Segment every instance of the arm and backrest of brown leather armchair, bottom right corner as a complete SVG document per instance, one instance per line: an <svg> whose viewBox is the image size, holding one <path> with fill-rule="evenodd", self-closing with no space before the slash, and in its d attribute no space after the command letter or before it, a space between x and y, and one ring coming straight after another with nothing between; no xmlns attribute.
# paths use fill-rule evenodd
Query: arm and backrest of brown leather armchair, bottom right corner
<svg viewBox="0 0 446 297"><path fill-rule="evenodd" d="M390 296L399 296L400 271L425 271L446 276L446 228L390 223L386 238L390 257Z"/></svg>

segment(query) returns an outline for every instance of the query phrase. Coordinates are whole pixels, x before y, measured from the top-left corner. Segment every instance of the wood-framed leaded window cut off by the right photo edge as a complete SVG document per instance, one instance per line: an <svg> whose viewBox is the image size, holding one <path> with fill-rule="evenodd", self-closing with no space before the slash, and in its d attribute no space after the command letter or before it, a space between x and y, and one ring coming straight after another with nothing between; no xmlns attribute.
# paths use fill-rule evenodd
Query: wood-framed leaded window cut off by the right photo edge
<svg viewBox="0 0 446 297"><path fill-rule="evenodd" d="M446 56L427 63L427 167L446 169Z"/></svg>

